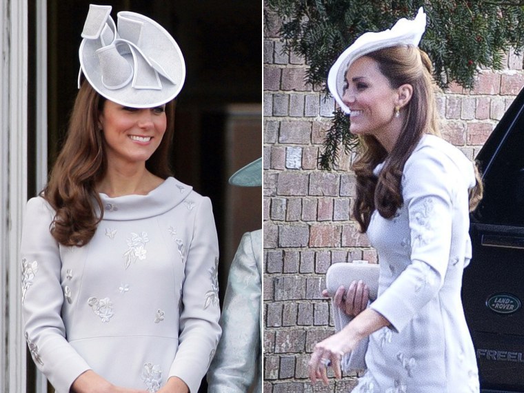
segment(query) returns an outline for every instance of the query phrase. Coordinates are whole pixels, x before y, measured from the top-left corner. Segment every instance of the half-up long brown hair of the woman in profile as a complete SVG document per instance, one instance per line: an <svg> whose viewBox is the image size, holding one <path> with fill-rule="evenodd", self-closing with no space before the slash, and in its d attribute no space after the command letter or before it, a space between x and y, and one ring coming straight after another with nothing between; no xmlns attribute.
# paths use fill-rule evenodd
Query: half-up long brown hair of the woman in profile
<svg viewBox="0 0 524 393"><path fill-rule="evenodd" d="M376 209L385 219L390 219L403 205L401 179L404 165L423 134L440 136L436 110L436 85L432 77L432 64L427 54L414 46L395 46L377 50L365 56L379 64L391 88L410 84L412 98L402 110L405 113L399 139L390 154L371 135L360 139L360 150L353 170L356 174L356 198L353 215L366 232L372 212ZM384 161L379 177L373 170ZM482 182L475 170L476 185L470 190L470 209L482 198Z"/></svg>

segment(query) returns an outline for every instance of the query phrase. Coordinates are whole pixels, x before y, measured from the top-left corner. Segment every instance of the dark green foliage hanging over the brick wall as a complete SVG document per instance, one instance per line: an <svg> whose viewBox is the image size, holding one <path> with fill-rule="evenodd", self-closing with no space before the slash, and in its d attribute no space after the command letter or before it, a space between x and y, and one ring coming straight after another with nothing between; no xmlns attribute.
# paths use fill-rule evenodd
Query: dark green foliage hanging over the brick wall
<svg viewBox="0 0 524 393"><path fill-rule="evenodd" d="M283 21L280 34L286 50L305 57L307 82L325 91L332 63L350 43L364 32L391 28L401 17L414 18L421 6L427 14L427 28L420 46L432 59L441 88L452 81L472 88L479 67L501 69L510 47L518 54L524 46L523 0L265 1L268 10ZM322 168L335 163L339 143L345 150L354 145L354 138L346 135L349 129L341 130L341 121L347 123L336 114L326 135Z"/></svg>

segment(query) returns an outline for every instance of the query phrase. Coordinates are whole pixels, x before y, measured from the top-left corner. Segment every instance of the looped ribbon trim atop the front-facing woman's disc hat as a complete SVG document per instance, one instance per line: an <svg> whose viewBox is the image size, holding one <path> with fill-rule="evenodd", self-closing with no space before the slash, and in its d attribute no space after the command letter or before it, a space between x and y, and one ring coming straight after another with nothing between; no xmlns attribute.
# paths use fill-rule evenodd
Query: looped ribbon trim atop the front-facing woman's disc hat
<svg viewBox="0 0 524 393"><path fill-rule="evenodd" d="M162 90L159 75L174 85L175 81L160 64L141 50L143 23L119 15L117 28L110 12L110 6L90 6L81 34L84 39L99 40L101 48L94 53L99 60L103 86L117 90L131 81L135 89ZM132 56L132 66L125 58L128 54Z"/></svg>

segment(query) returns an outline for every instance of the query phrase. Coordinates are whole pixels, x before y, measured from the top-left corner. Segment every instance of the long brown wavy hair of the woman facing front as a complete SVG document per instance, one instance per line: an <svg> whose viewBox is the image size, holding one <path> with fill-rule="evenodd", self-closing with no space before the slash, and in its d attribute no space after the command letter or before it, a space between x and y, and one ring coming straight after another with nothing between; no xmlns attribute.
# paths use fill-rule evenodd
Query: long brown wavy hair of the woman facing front
<svg viewBox="0 0 524 393"><path fill-rule="evenodd" d="M83 81L74 101L68 133L46 188L40 195L56 212L50 225L62 245L82 246L92 239L103 218L103 205L95 185L107 170L105 142L99 130L99 114L105 99ZM163 139L145 162L152 174L172 176L168 156L174 130L174 101L165 105L167 128Z"/></svg>

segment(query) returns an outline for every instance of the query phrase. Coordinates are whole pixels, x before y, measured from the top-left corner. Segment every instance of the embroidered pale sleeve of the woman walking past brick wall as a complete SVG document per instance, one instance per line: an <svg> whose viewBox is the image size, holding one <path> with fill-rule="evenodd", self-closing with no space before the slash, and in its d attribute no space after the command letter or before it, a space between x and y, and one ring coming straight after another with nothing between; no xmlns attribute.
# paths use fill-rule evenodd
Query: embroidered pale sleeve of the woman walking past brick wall
<svg viewBox="0 0 524 393"><path fill-rule="evenodd" d="M371 305L394 330L402 330L443 285L452 243L456 170L445 154L431 148L414 153L405 164L402 187L412 263Z"/></svg>

